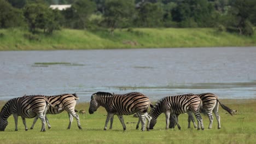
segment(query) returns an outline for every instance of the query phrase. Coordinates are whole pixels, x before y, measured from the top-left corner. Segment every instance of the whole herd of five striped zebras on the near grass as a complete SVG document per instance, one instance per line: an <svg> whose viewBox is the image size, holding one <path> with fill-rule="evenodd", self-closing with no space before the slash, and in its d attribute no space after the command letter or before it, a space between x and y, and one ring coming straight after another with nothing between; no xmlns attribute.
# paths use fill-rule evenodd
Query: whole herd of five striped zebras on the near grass
<svg viewBox="0 0 256 144"><path fill-rule="evenodd" d="M42 121L41 131L45 131L45 122L50 129L50 123L46 117L48 114L57 114L63 111L67 111L69 116L68 128L71 128L73 117L77 119L77 125L79 129L82 129L80 125L80 119L75 111L75 105L78 100L77 94L61 94L53 96L45 95L24 95L23 97L13 98L7 101L2 107L0 112L0 131L4 131L8 125L8 117L13 115L15 121L15 131L18 130L18 116L21 116L22 121L27 130L26 118L34 118L33 124L30 129L33 129L37 119ZM174 128L176 125L178 129L181 126L178 123L178 116L181 113L188 113L188 128L190 128L190 121L193 122L194 127L197 129L204 129L201 113L208 115L210 124L209 129L212 128L213 115L217 118L218 129L220 129L220 116L218 113L218 106L232 115L234 110L220 103L217 95L212 93L202 94L183 94L165 97L158 100L153 105L149 98L139 92L131 92L126 94L112 94L108 92L97 92L91 95L91 101L89 106L89 113L94 113L98 107L102 106L107 111L107 119L104 126L104 130L107 130L107 125L110 120L110 127L112 129L114 115L117 115L123 130L126 130L123 115L133 115L138 117L138 123L136 129L139 128L139 123L142 124L142 131L153 129L156 120L161 113L165 113L166 116L166 129ZM151 108L150 108L151 107ZM150 111L148 113L148 110ZM193 113L197 120L197 125ZM146 125L147 119L147 125Z"/></svg>

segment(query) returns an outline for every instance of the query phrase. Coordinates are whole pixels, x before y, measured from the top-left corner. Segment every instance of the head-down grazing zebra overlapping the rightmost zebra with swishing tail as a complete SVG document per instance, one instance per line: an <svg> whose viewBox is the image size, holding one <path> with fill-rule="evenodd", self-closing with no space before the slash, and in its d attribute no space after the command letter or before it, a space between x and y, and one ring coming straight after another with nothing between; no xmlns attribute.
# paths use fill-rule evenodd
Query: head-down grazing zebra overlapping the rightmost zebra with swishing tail
<svg viewBox="0 0 256 144"><path fill-rule="evenodd" d="M153 129L156 124L156 119L161 113L165 113L166 116L166 129L169 128L170 117L177 124L178 129L181 130L181 126L178 124L177 114L187 112L189 116L192 116L192 112L195 114L198 130L203 130L202 117L199 112L201 105L201 99L195 94L183 94L176 96L169 96L162 98L156 102L153 109L149 112L149 115L152 116L150 121L149 129Z"/></svg>

